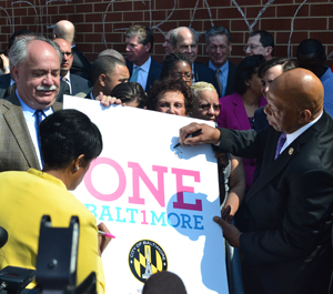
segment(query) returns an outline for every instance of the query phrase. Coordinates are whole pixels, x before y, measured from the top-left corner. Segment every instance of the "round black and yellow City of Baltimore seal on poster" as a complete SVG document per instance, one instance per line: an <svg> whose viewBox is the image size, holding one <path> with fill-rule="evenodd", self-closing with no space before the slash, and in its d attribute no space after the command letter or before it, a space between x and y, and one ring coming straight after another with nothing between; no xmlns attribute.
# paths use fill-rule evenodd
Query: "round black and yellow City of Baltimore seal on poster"
<svg viewBox="0 0 333 294"><path fill-rule="evenodd" d="M130 250L129 265L132 274L144 283L152 274L168 270L162 247L151 240L138 241Z"/></svg>

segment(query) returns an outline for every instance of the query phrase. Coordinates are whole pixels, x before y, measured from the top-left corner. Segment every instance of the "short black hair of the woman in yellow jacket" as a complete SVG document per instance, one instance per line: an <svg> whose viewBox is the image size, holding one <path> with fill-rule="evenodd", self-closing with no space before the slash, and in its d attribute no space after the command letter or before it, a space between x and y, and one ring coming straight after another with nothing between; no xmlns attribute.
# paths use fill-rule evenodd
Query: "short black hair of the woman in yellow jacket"
<svg viewBox="0 0 333 294"><path fill-rule="evenodd" d="M78 110L54 112L41 122L39 130L43 160L52 170L65 169L81 154L87 161L93 160L103 149L100 130Z"/></svg>

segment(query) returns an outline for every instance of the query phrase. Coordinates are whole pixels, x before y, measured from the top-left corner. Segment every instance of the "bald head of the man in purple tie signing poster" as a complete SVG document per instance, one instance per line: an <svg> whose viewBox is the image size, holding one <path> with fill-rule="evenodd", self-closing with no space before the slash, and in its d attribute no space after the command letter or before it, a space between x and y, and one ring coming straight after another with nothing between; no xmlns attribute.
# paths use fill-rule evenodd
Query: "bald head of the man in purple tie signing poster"
<svg viewBox="0 0 333 294"><path fill-rule="evenodd" d="M292 133L320 115L324 89L314 73L294 69L271 83L266 98L269 123L276 131Z"/></svg>

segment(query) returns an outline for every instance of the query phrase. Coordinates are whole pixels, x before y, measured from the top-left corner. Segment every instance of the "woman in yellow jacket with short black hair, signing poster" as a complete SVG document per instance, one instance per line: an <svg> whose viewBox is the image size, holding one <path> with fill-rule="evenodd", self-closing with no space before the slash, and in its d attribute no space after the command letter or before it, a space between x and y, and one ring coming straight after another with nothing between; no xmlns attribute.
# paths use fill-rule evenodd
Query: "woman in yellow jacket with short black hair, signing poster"
<svg viewBox="0 0 333 294"><path fill-rule="evenodd" d="M42 215L51 216L52 226L68 226L71 216L78 215L77 283L95 272L98 293L104 293L100 256L109 241L98 237L95 217L68 191L80 184L91 161L101 153L101 133L85 114L62 110L42 121L40 138L42 171L0 173L0 225L9 235L0 250L0 270L7 265L36 268ZM103 224L99 229L108 231Z"/></svg>

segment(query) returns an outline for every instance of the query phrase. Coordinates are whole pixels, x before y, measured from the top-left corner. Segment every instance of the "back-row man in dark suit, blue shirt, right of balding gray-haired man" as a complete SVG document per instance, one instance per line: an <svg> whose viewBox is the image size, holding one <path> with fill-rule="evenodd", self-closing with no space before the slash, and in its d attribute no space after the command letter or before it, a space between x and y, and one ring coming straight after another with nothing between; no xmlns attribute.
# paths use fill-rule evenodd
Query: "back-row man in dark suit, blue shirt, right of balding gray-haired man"
<svg viewBox="0 0 333 294"><path fill-rule="evenodd" d="M234 92L233 82L236 65L228 60L231 52L230 31L222 27L212 27L205 32L205 51L210 55L208 67L215 72L221 97Z"/></svg>

